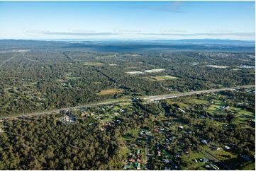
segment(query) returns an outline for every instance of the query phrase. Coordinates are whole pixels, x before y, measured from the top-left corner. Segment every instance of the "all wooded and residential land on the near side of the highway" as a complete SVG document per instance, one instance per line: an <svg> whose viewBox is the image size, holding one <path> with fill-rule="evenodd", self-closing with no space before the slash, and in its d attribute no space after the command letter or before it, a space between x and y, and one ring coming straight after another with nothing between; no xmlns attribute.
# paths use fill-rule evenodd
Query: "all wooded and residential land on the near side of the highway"
<svg viewBox="0 0 256 171"><path fill-rule="evenodd" d="M252 170L254 98L245 89L3 122L0 168Z"/></svg>

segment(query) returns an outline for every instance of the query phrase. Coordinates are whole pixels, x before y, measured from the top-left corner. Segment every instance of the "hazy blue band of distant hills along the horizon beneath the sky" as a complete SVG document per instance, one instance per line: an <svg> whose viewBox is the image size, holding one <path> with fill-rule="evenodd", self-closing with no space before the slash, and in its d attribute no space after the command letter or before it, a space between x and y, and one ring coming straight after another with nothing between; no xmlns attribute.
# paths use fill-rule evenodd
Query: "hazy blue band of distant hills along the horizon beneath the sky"
<svg viewBox="0 0 256 171"><path fill-rule="evenodd" d="M255 52L255 41L243 40L0 40L0 49L45 48L84 49L103 52L132 51L218 51Z"/></svg>

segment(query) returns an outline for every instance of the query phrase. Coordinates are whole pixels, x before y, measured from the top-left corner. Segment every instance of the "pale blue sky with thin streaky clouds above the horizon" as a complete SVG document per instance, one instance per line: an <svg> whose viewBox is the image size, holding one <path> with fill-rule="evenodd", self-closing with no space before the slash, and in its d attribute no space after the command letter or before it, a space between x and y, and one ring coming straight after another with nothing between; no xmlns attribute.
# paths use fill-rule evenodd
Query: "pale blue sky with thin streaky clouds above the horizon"
<svg viewBox="0 0 256 171"><path fill-rule="evenodd" d="M255 40L255 1L0 1L0 39Z"/></svg>

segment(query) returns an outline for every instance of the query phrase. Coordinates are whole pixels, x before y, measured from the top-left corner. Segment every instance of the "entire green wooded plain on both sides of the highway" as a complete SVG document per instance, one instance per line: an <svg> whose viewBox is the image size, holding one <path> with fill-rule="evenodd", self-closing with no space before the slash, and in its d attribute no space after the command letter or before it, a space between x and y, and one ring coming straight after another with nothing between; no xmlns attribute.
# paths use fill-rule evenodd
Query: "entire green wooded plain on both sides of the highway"
<svg viewBox="0 0 256 171"><path fill-rule="evenodd" d="M254 85L253 53L0 42L0 170L255 169L254 89L142 100Z"/></svg>

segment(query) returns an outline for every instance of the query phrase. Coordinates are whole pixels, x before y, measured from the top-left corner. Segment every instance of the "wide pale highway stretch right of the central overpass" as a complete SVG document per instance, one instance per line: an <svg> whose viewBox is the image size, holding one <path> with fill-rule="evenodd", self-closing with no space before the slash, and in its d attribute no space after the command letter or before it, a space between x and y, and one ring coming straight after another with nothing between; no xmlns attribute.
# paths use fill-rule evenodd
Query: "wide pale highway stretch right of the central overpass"
<svg viewBox="0 0 256 171"><path fill-rule="evenodd" d="M220 89L211 89L211 90L201 90L201 91L191 91L188 93L177 93L177 94L169 94L169 95L153 95L143 98L143 100L147 100L149 102L155 101L155 100L164 100L169 98L179 98L187 95L199 95L204 93L215 93L223 90L235 90L238 88L254 88L255 85L249 85L249 86L237 86L233 88L220 88Z"/></svg>

